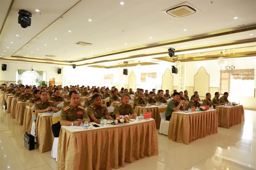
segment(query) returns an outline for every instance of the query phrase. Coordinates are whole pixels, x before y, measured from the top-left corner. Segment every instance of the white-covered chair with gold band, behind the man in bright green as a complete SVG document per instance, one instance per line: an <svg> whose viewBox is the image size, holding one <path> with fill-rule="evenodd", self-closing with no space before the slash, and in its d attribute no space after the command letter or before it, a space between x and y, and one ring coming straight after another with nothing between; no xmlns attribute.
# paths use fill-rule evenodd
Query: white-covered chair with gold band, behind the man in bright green
<svg viewBox="0 0 256 170"><path fill-rule="evenodd" d="M161 118L159 133L164 135L168 135L169 123L170 123L170 121L166 121L166 117L165 117L166 107L167 107L166 104L160 104L160 106L158 107L158 112L160 113L160 118Z"/></svg>

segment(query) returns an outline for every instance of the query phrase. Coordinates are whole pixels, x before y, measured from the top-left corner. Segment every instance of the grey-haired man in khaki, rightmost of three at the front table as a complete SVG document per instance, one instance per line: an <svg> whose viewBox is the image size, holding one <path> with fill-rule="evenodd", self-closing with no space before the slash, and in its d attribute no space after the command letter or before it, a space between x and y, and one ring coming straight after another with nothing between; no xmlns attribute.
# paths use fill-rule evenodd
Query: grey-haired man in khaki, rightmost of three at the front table
<svg viewBox="0 0 256 170"><path fill-rule="evenodd" d="M129 115L129 118L137 117L134 109L129 104L129 95L126 93L122 94L121 103L117 104L114 108L113 116L117 118L119 115Z"/></svg>

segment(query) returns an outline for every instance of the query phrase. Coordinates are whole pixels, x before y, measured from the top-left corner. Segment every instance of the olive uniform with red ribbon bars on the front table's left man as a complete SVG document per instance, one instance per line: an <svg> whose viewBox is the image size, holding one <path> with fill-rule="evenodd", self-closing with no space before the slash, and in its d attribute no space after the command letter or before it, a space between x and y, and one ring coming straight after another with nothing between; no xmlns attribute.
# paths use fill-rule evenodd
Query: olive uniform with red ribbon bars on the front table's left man
<svg viewBox="0 0 256 170"><path fill-rule="evenodd" d="M60 121L76 121L77 119L83 120L83 118L88 118L84 107L77 106L76 109L72 107L71 104L61 109Z"/></svg>

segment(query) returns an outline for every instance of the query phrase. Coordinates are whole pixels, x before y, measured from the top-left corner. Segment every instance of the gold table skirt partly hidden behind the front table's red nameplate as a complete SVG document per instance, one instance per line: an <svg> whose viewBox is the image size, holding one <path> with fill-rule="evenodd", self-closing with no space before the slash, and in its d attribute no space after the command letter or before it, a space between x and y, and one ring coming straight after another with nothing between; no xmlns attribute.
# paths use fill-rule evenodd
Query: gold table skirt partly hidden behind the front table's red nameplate
<svg viewBox="0 0 256 170"><path fill-rule="evenodd" d="M152 112L152 118L154 118L156 122L157 129L160 128L160 113L158 112L158 107L135 107L134 111L137 115L140 115L140 112Z"/></svg>

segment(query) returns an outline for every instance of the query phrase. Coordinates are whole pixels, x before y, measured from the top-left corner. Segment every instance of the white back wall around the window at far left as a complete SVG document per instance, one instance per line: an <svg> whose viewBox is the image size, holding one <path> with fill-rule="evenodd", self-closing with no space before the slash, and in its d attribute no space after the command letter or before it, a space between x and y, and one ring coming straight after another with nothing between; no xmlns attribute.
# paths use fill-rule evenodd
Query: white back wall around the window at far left
<svg viewBox="0 0 256 170"><path fill-rule="evenodd" d="M3 62L1 62L2 65ZM16 81L16 69L24 69L24 70L31 70L32 64L23 64L23 63L6 63L7 70L0 71L0 81L4 82L12 82L15 83ZM56 66L50 65L33 65L34 71L46 71L47 72L47 84L49 84L49 79L55 78L55 83L61 84L62 83L62 75L58 74L58 68Z"/></svg>

